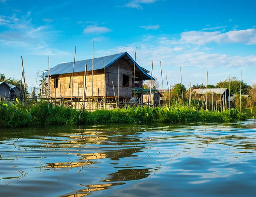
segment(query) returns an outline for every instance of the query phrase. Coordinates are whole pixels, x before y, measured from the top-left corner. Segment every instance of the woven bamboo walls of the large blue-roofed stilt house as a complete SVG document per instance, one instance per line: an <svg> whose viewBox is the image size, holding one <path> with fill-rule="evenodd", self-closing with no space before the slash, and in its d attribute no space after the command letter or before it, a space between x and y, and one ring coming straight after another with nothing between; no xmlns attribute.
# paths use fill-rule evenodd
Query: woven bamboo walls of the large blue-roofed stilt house
<svg viewBox="0 0 256 197"><path fill-rule="evenodd" d="M124 59L120 58L111 66L106 68L106 87L107 97L114 97L113 85L115 94L118 94L118 75L117 67L119 66L119 97L131 97L132 96L132 76L133 67ZM122 87L123 74L129 76L129 87ZM54 77L58 78L58 87L54 87ZM112 85L113 81L113 85ZM60 74L58 76L51 76L50 81L50 95L52 98L63 97L71 98L72 94L72 73ZM87 71L86 76L86 97L92 96L92 71ZM93 97L105 96L105 74L104 69L93 71ZM73 97L83 97L84 94L84 72L74 73L73 79Z"/></svg>

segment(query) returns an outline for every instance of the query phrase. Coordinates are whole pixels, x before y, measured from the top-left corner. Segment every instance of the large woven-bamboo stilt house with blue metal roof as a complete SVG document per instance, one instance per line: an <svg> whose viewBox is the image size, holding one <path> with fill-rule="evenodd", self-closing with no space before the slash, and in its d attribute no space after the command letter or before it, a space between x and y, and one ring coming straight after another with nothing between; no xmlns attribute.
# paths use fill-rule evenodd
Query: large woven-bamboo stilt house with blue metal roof
<svg viewBox="0 0 256 197"><path fill-rule="evenodd" d="M105 98L109 102L127 102L134 97L134 93L138 102L143 99L141 95L145 92L142 88L143 82L150 80L151 76L147 74L146 69L137 63L134 74L134 64L134 60L127 52L76 61L75 63L60 63L49 70L47 86L49 84L50 99L66 100L70 105L79 108L80 104L77 102L83 101L85 88L85 101L87 103L85 108L90 108L88 102L92 100L92 97L93 102L96 102L92 106L94 109L96 107L101 108L102 106L98 106L97 102L100 103ZM86 81L84 81L85 65L87 65ZM48 71L44 72L44 77L48 77ZM140 93L139 90L141 90ZM47 91L48 87L45 87L42 91L42 97L48 97Z"/></svg>

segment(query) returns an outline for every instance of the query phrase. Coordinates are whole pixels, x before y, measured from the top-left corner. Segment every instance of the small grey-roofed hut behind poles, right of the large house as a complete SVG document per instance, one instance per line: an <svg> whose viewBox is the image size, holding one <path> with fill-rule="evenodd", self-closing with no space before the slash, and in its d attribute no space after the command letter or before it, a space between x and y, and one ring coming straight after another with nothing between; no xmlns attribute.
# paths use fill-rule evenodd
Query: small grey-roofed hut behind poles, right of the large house
<svg viewBox="0 0 256 197"><path fill-rule="evenodd" d="M206 93L207 93L207 89L194 89L192 91L192 94L197 97L197 98L201 98L202 100L206 99ZM214 103L212 103L212 93L214 96L214 102L216 102L217 105L221 106L227 106L227 108L229 108L229 102L228 102L228 97L229 97L229 90L227 88L214 88L214 89L208 89L208 102L210 102L210 105L213 105ZM231 96L232 94L230 94ZM193 97L192 97L193 99ZM208 105L208 103L207 103Z"/></svg>

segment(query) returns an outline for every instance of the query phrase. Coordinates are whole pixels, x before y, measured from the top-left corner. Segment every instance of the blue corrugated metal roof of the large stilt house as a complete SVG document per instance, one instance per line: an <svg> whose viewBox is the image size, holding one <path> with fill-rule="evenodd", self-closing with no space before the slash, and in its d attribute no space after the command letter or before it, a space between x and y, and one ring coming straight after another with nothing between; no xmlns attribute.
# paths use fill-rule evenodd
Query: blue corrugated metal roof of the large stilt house
<svg viewBox="0 0 256 197"><path fill-rule="evenodd" d="M127 52L122 52L117 54L111 54L108 56L93 58L93 70L104 69L104 61L105 61L105 68L107 68L108 66L110 66L111 64L119 60L121 57L125 57L125 60L127 60L128 63L131 64L131 66L134 66L134 60L131 58L131 56ZM60 63L57 66L50 69L49 75L72 73L73 64L74 62ZM87 60L76 61L74 72L84 72L85 64L87 64L87 71L91 71L92 59L87 59ZM140 68L140 66L137 63L136 63L136 66L137 67L135 70L135 74L136 75L138 74L139 75L138 77L144 77L147 80L150 79L150 76L146 74L145 71L143 71L144 69ZM48 71L44 73L44 76L48 76ZM154 78L152 78L152 80L154 80Z"/></svg>

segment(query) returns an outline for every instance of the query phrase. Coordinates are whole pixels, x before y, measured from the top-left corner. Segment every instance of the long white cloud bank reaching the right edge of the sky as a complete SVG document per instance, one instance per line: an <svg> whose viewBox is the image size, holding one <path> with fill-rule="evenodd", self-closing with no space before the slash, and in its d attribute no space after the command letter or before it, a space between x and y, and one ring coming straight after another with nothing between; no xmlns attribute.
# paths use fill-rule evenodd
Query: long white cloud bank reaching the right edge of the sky
<svg viewBox="0 0 256 197"><path fill-rule="evenodd" d="M207 43L243 43L252 45L256 43L256 29L222 31L187 31L180 34L180 40L160 37L159 43L169 44L195 44L205 45Z"/></svg>

